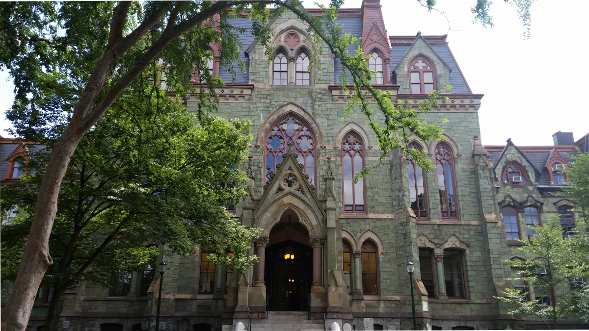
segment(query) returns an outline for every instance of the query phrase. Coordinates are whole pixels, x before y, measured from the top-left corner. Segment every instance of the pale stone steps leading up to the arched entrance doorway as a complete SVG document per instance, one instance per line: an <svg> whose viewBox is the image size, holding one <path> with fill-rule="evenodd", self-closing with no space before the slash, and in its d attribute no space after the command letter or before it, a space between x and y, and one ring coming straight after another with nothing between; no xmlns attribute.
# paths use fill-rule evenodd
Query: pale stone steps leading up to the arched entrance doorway
<svg viewBox="0 0 589 331"><path fill-rule="evenodd" d="M323 319L307 317L307 312L268 312L268 319L252 320L252 331L323 331Z"/></svg>

